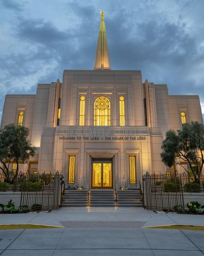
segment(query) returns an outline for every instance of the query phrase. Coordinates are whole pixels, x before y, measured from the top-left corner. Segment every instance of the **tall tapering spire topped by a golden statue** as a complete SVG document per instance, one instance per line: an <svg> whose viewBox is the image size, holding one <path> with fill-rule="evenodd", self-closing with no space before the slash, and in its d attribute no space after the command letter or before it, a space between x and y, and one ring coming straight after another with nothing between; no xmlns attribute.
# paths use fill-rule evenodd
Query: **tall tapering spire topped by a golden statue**
<svg viewBox="0 0 204 256"><path fill-rule="evenodd" d="M100 9L99 9L100 10ZM104 13L101 12L101 23L99 28L99 38L96 50L96 59L94 64L94 69L111 69L110 58L108 53L108 43L105 31L105 22L103 20Z"/></svg>

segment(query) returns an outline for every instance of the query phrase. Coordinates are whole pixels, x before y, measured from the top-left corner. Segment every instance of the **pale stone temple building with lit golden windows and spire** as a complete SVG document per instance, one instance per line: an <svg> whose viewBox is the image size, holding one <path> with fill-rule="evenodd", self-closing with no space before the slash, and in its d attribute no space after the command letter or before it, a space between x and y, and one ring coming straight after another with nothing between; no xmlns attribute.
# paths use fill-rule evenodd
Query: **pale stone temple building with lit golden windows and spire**
<svg viewBox="0 0 204 256"><path fill-rule="evenodd" d="M1 128L28 127L36 147L22 172L58 170L68 186L85 189L138 186L146 172L183 172L161 162L161 144L169 129L203 123L199 96L169 95L166 84L143 83L140 70L111 70L103 16L93 70L64 70L62 82L40 83L35 95L6 95Z"/></svg>

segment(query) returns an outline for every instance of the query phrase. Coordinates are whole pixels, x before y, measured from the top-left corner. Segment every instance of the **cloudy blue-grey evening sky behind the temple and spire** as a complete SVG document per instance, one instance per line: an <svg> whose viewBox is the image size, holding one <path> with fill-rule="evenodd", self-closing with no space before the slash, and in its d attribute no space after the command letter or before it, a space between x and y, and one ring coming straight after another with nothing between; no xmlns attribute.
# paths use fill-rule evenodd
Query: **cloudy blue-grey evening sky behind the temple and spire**
<svg viewBox="0 0 204 256"><path fill-rule="evenodd" d="M7 93L93 69L99 8L111 68L198 94L204 113L204 0L0 0L0 119Z"/></svg>

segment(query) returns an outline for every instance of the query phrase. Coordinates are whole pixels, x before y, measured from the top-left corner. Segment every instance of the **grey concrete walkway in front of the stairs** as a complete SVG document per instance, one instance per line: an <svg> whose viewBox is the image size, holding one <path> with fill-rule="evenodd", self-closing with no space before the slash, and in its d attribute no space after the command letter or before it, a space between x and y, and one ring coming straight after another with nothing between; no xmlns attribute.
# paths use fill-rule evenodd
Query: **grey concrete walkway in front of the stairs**
<svg viewBox="0 0 204 256"><path fill-rule="evenodd" d="M50 213L0 214L0 224L18 223L65 228L0 230L0 255L204 255L204 231L141 228L204 226L202 215L155 213L143 208L62 208Z"/></svg>

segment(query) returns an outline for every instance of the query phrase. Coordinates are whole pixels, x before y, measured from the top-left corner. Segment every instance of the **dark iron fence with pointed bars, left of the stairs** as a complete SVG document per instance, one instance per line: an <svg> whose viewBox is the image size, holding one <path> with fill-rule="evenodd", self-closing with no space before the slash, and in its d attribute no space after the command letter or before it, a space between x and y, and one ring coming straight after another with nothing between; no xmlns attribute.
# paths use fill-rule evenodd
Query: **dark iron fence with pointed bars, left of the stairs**
<svg viewBox="0 0 204 256"><path fill-rule="evenodd" d="M61 207L64 184L58 172L31 174L28 171L10 180L6 182L6 177L0 174L0 192L18 192L15 194L19 194L20 205L27 205L32 211Z"/></svg>

